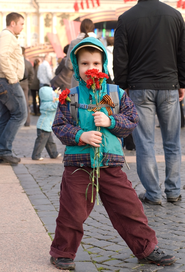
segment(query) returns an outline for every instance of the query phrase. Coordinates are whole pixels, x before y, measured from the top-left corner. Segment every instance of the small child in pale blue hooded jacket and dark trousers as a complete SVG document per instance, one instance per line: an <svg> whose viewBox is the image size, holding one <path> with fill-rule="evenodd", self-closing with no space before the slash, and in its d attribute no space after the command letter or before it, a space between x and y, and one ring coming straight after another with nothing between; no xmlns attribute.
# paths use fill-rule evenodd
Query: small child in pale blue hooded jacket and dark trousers
<svg viewBox="0 0 185 272"><path fill-rule="evenodd" d="M56 144L51 135L51 126L58 105L57 94L51 87L44 86L39 89L39 97L41 101L41 115L37 121L37 139L35 140L32 160L43 160L41 152L44 148L48 151L50 158L55 159L61 156L61 153L57 152Z"/></svg>

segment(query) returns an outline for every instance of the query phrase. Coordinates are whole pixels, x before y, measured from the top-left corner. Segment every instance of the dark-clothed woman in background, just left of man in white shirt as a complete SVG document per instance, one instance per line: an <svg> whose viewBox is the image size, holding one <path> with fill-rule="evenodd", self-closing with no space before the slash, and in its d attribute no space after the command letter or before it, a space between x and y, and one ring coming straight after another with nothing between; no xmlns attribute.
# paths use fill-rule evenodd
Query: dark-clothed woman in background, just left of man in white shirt
<svg viewBox="0 0 185 272"><path fill-rule="evenodd" d="M34 110L35 115L37 115L39 113L39 106L37 107L37 104L36 104L36 103L38 103L38 101L36 102L36 94L39 90L39 80L37 78L37 70L38 70L39 64L41 64L41 60L39 60L39 59L34 60L33 68L35 71L35 77L32 81L31 86L30 86L31 94L33 96L33 110Z"/></svg>

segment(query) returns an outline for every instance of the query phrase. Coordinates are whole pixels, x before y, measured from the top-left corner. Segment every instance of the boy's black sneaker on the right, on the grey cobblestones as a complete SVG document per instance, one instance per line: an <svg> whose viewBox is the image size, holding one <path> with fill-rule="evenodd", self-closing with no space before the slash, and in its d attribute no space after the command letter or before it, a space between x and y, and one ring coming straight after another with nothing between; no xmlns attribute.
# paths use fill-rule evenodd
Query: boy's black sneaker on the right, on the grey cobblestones
<svg viewBox="0 0 185 272"><path fill-rule="evenodd" d="M160 248L155 246L154 250L150 255L143 259L137 259L140 264L157 264L157 265L170 265L176 262L176 257L165 254Z"/></svg>

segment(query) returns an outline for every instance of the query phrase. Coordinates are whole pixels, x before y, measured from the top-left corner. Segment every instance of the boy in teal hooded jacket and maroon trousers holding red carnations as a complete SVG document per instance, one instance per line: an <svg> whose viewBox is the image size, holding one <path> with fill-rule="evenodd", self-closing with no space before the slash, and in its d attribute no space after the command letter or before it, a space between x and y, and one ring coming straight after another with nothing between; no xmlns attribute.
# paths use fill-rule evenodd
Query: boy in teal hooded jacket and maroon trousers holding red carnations
<svg viewBox="0 0 185 272"><path fill-rule="evenodd" d="M102 43L95 38L85 38L71 51L76 79L79 81L79 102L94 104L94 93L86 87L88 69L98 69L107 73L107 53ZM101 99L107 94L107 85L102 83ZM83 222L93 209L91 190L85 191L89 183L89 173L94 167L93 147L100 148L99 195L114 228L126 241L139 263L157 265L173 264L176 258L158 248L154 230L147 225L143 206L137 197L131 182L121 170L124 155L117 137L126 137L138 123L133 102L124 90L119 89L120 112L108 116L106 108L101 112L78 109L78 126L75 126L67 104L58 104L52 126L56 136L66 144L64 154L65 170L61 183L60 210L56 219L55 238L51 245L50 261L59 269L74 269L74 258L83 236ZM71 106L72 107L72 106ZM106 136L106 144L102 133ZM89 145L88 145L89 144ZM84 148L81 145L84 145ZM96 166L95 166L96 167ZM72 174L73 173L73 174ZM71 175L72 174L72 175ZM91 187L92 188L92 187ZM94 201L95 201L94 186Z"/></svg>

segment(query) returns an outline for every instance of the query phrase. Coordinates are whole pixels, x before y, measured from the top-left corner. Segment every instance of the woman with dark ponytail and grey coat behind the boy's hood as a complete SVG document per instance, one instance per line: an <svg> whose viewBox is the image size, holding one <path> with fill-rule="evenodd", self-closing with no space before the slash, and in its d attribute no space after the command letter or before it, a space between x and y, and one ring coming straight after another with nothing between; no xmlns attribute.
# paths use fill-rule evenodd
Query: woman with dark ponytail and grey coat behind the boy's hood
<svg viewBox="0 0 185 272"><path fill-rule="evenodd" d="M80 33L78 34L75 40L71 41L69 45L68 53L65 60L65 66L69 70L73 71L73 66L70 59L70 53L75 45L77 45L81 40L87 37L94 37L96 38L96 34L94 33L94 24L90 19L84 19L80 25ZM74 78L74 73L71 78L71 88L78 86L78 81Z"/></svg>

